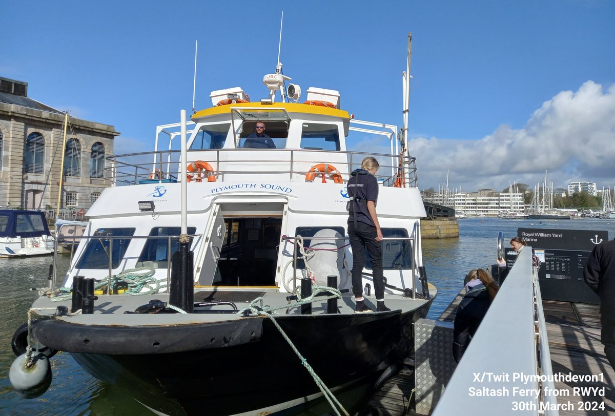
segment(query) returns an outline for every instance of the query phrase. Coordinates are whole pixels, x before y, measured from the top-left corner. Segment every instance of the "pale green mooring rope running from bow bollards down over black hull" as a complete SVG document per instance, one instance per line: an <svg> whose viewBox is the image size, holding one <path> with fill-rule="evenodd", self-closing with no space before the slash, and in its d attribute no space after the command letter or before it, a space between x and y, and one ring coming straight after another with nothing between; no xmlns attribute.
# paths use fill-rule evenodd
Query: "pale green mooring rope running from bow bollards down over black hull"
<svg viewBox="0 0 615 416"><path fill-rule="evenodd" d="M312 294L310 296L305 297L304 299L298 299L290 307L296 307L296 306L314 302L315 301L314 298L321 291L330 292L331 294L329 296L324 296L324 297L319 296L318 297L319 301L324 300L324 299L335 299L335 298L341 299L342 297L341 292L338 289L329 288L327 286L313 286ZM260 303L260 307L256 306L256 304L259 304L259 303ZM273 314L271 313L279 309L286 309L288 307L289 307L288 305L277 306L277 307L264 306L263 297L257 297L256 299L252 300L252 302L250 302L250 304L247 307L245 307L243 310L240 310L239 313L244 313L246 311L249 311L249 312L255 313L256 315L261 315L261 316L265 316L266 318L269 318L271 322L274 324L274 326L276 326L277 330L280 331L280 334L282 334L282 337L284 337L288 345L290 345L290 348L292 348L292 350L295 351L295 354L299 357L301 364L306 368L306 370L308 370L309 374L312 376L312 379L314 379L314 382L316 383L320 391L322 391L323 396L325 396L325 398L331 405L331 408L335 410L335 414L338 416L341 416L338 410L339 408L344 413L344 415L349 416L346 409L344 409L344 406L342 406L342 404L338 401L338 399L335 398L333 393L331 393L331 390L329 390L327 385L325 385L322 379L320 379L320 377L314 372L314 369L308 363L308 360L301 355L299 350L295 347L295 345L290 340L290 338L288 338L287 334L284 332L284 329L282 329L280 324L277 323L277 321L273 317Z"/></svg>

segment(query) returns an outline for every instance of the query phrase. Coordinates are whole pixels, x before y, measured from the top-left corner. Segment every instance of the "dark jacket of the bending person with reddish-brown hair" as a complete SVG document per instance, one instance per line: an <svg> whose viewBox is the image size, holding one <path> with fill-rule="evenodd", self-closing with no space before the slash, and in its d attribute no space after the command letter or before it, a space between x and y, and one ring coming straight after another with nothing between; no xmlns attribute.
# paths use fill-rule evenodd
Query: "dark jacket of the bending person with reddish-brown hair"
<svg viewBox="0 0 615 416"><path fill-rule="evenodd" d="M482 283L466 293L457 307L453 329L453 358L459 363L470 345L478 325L491 305L487 288Z"/></svg>

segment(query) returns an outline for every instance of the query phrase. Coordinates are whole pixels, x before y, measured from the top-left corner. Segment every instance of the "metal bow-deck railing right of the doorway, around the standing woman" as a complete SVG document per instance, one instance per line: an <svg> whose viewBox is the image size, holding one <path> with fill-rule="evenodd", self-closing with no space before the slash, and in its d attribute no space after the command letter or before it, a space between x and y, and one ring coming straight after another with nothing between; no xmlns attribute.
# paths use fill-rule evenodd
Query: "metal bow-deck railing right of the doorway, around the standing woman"
<svg viewBox="0 0 615 416"><path fill-rule="evenodd" d="M384 237L381 241L408 241L408 243L410 243L410 249L411 249L411 257L412 257L412 281L413 281L413 286L412 286L412 291L411 291L411 298L412 299L416 299L416 288L418 288L417 283L423 285L423 292L425 294L425 292L427 291L427 280L426 278L423 279L423 277L421 276L421 273L419 272L420 267L419 267L419 259L417 256L418 251L421 249L420 248L420 243L418 241L421 240L420 238L420 232L419 232L419 226L417 226L416 224L418 224L418 222L415 222L415 228L413 229L413 234L410 237ZM304 253L302 253L303 251L306 250L314 250L314 248L311 247L303 247L303 246L299 246L297 244L298 241L303 241L303 240L316 240L316 241L327 241L327 242L331 242L331 241L335 241L335 245L337 246L337 241L347 241L349 240L349 237L303 237L301 235L297 235L297 236L288 236L285 235L284 237L282 237L282 240L285 241L289 241L293 244L293 276L296 277L297 275L297 261L303 259ZM336 249L343 249L346 248L347 246L349 246L350 243L343 245L341 247L337 247ZM324 248L319 248L319 249L324 249ZM333 249L333 248L331 248ZM329 249L325 249L325 250L329 250ZM299 252L298 252L299 251ZM301 257L300 257L301 256ZM370 273L365 273L363 272L363 275L368 275L368 276L372 276ZM296 286L296 278L293 279L293 292L296 291L297 286ZM389 285L389 288L392 289L393 287ZM395 288L396 290L399 291L405 291L406 288ZM426 297L429 297L429 292L427 292Z"/></svg>

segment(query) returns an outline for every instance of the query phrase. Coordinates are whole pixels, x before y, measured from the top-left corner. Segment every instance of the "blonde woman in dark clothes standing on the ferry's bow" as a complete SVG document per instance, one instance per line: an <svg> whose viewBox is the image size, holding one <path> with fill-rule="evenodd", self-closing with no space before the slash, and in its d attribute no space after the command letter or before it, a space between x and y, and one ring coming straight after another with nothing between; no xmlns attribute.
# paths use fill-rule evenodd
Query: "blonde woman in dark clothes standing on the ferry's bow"
<svg viewBox="0 0 615 416"><path fill-rule="evenodd" d="M376 312L391 310L384 305L384 274L382 245L383 233L376 216L378 180L376 172L380 165L369 156L361 162L361 168L352 171L348 180L348 237L352 247L352 293L357 307L355 313L372 312L363 300L363 267L365 249L370 254L371 271L376 295Z"/></svg>

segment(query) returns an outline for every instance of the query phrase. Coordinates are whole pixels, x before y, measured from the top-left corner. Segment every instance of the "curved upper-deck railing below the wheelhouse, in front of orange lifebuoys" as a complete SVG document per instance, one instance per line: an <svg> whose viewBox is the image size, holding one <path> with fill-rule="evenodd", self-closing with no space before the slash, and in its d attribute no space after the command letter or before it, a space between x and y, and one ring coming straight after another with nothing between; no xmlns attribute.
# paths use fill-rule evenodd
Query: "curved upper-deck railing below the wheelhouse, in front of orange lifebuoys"
<svg viewBox="0 0 615 416"><path fill-rule="evenodd" d="M262 152L259 155L262 157L256 157L258 152ZM260 179L304 181L311 168L322 163L334 167L336 171L317 172L315 181L320 176L339 173L343 182L347 182L352 170L359 168L368 155L376 157L381 163L377 178L383 186L417 186L416 158L403 155L312 149L199 149L188 151L188 163L197 160L207 162L212 167L210 175L215 175L215 181L245 180L255 175ZM181 180L180 151L131 153L109 156L107 159L106 176L111 179L112 186ZM152 159L156 161L154 165ZM191 176L197 175L191 173ZM202 181L208 181L207 172L202 172L202 176Z"/></svg>

